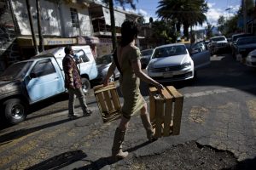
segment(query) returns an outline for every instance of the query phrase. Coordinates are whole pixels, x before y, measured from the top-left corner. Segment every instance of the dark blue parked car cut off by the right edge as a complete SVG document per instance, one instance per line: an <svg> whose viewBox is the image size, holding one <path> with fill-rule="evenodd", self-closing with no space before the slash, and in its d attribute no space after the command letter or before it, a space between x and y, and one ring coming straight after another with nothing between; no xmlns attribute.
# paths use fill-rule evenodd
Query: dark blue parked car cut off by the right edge
<svg viewBox="0 0 256 170"><path fill-rule="evenodd" d="M235 43L236 60L245 62L247 54L256 49L256 37L240 37Z"/></svg>

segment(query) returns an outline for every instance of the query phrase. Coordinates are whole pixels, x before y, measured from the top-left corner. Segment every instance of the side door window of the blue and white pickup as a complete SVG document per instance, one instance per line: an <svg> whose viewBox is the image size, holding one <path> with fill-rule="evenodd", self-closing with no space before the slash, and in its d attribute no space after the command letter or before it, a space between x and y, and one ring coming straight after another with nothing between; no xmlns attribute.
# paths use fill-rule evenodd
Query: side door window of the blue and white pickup
<svg viewBox="0 0 256 170"><path fill-rule="evenodd" d="M37 77L43 77L54 72L55 67L52 65L50 59L38 61L38 63L32 69L32 73L34 73Z"/></svg>

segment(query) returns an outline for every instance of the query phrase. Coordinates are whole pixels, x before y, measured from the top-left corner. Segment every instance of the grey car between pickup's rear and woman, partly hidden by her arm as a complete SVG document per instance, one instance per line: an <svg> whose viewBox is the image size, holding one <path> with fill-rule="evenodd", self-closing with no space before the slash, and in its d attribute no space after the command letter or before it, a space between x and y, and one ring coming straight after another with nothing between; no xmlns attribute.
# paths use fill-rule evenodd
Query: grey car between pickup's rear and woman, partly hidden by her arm
<svg viewBox="0 0 256 170"><path fill-rule="evenodd" d="M103 79L106 77L108 73L108 68L112 63L112 60L113 60L112 54L107 54L107 55L103 55L102 57L96 58L98 76L96 77L95 80L93 80L95 84L102 83ZM119 76L120 76L120 73L116 68L115 71L113 72L112 77L109 78L110 82L113 82L115 79L119 78Z"/></svg>

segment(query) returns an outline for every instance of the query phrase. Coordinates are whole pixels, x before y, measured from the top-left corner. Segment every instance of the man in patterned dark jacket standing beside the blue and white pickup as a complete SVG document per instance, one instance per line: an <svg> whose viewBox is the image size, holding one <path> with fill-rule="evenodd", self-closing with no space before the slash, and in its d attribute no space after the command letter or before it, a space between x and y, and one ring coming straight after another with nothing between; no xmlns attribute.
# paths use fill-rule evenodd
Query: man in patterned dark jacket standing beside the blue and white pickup
<svg viewBox="0 0 256 170"><path fill-rule="evenodd" d="M71 46L64 48L65 57L62 60L62 66L65 73L65 88L68 89L68 117L74 119L77 115L74 114L74 101L76 96L79 98L80 105L84 116L90 116L92 111L86 105L85 96L82 90L82 81L79 74L76 59Z"/></svg>

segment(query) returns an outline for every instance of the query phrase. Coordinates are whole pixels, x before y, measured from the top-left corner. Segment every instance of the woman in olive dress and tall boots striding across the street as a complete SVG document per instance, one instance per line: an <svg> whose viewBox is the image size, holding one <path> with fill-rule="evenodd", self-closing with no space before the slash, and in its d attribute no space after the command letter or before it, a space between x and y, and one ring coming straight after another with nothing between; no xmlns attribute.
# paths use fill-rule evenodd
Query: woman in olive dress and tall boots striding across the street
<svg viewBox="0 0 256 170"><path fill-rule="evenodd" d="M146 129L149 141L154 141L154 131L149 121L147 103L140 92L140 80L154 85L159 92L163 86L148 77L141 69L141 54L139 48L135 46L138 29L137 23L125 20L121 26L121 42L113 54L113 62L104 78L103 85L108 86L108 79L112 76L117 67L120 72L119 84L124 97L124 104L121 109L121 121L116 128L113 138L112 156L114 159L123 159L128 156L128 152L123 152L122 144L125 139L125 132L129 125L131 116L140 111L143 127Z"/></svg>

